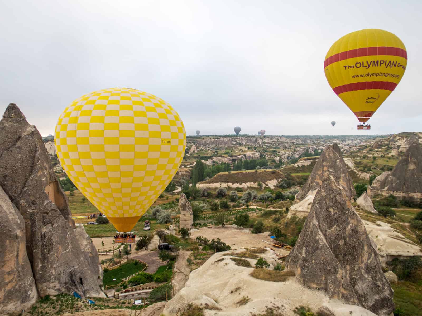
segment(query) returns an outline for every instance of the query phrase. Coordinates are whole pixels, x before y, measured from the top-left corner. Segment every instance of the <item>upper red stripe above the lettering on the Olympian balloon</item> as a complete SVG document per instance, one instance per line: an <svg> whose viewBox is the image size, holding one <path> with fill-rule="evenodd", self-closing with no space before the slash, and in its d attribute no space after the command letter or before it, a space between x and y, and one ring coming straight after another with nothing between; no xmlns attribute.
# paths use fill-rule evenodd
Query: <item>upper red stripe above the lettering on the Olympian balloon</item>
<svg viewBox="0 0 422 316"><path fill-rule="evenodd" d="M342 51L341 53L334 54L333 56L328 57L324 61L324 68L330 64L339 62L344 59L362 57L362 56L379 56L379 55L398 56L398 57L403 57L407 59L407 52L402 48L387 47L387 46L364 47L364 48L351 49L349 51Z"/></svg>

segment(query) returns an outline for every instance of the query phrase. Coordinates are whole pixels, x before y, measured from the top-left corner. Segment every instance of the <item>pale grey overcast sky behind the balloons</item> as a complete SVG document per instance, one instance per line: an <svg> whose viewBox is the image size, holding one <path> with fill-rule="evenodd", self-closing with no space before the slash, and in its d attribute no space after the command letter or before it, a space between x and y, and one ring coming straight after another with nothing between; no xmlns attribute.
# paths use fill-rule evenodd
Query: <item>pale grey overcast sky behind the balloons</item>
<svg viewBox="0 0 422 316"><path fill-rule="evenodd" d="M421 12L420 0L0 0L0 111L16 103L46 136L74 99L126 87L170 103L188 135L358 134L323 63L339 37L379 28L408 65L370 133L422 131Z"/></svg>

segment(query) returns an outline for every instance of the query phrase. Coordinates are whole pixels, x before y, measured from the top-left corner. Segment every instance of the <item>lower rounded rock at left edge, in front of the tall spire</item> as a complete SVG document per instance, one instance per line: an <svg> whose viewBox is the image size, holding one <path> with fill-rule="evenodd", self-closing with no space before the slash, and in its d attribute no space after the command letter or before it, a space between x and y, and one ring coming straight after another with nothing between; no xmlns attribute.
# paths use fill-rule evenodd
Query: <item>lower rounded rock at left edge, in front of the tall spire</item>
<svg viewBox="0 0 422 316"><path fill-rule="evenodd" d="M0 187L0 313L28 309L38 298L25 248L25 223Z"/></svg>

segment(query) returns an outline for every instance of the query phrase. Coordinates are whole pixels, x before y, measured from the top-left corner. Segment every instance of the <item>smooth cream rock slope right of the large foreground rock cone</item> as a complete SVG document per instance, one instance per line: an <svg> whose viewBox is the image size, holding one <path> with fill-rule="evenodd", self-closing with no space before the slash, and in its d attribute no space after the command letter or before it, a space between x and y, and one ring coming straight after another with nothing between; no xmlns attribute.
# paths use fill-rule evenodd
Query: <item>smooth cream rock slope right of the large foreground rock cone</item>
<svg viewBox="0 0 422 316"><path fill-rule="evenodd" d="M375 243L381 265L387 267L387 262L394 258L403 259L414 256L422 257L422 249L408 240L390 224L376 221L363 221L369 238Z"/></svg>

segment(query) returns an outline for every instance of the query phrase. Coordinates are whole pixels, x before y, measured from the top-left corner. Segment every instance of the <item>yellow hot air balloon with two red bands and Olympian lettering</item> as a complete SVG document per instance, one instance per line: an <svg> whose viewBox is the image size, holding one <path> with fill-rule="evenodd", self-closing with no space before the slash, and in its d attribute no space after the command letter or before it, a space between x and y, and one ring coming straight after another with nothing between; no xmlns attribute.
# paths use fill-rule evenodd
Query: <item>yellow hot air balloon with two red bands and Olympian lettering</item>
<svg viewBox="0 0 422 316"><path fill-rule="evenodd" d="M395 89L406 65L403 42L382 29L362 29L341 37L324 61L328 83L361 123Z"/></svg>

